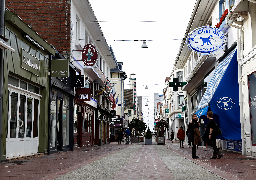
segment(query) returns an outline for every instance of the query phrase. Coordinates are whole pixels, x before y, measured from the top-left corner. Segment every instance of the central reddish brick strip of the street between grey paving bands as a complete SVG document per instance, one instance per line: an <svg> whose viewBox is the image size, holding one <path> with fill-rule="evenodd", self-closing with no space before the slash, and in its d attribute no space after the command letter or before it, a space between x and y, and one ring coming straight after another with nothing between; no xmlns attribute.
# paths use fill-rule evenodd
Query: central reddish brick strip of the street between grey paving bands
<svg viewBox="0 0 256 180"><path fill-rule="evenodd" d="M139 146L139 145L138 145ZM116 174L114 179L173 179L165 163L158 156L154 145L141 148Z"/></svg>

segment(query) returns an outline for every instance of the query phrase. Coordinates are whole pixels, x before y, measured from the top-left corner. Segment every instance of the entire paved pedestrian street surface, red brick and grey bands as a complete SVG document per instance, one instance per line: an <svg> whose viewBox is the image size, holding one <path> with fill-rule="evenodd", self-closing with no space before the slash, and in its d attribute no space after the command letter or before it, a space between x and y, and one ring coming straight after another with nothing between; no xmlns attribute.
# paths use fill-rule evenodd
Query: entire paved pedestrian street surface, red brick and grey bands
<svg viewBox="0 0 256 180"><path fill-rule="evenodd" d="M0 179L254 179L254 158L224 151L210 159L212 149L191 148L167 140L165 145L144 142L111 143L75 151L39 155L0 164Z"/></svg>

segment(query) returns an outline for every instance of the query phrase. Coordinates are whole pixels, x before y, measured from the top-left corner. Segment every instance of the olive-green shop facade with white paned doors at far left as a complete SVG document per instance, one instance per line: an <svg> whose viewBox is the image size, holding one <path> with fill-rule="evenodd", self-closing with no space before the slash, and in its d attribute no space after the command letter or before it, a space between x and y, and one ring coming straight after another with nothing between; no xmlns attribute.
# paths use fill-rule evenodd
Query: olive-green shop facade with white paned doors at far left
<svg viewBox="0 0 256 180"><path fill-rule="evenodd" d="M15 52L4 54L1 160L46 153L49 62L55 50L20 18L5 12L5 37Z"/></svg>

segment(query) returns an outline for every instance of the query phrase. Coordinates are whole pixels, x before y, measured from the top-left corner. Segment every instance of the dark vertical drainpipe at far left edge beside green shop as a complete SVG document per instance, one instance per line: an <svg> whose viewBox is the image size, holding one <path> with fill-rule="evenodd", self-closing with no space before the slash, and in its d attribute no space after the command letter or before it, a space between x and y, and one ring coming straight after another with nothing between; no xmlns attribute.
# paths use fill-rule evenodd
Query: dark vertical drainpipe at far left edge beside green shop
<svg viewBox="0 0 256 180"><path fill-rule="evenodd" d="M4 9L5 1L0 2L0 35L4 36ZM2 159L2 116L3 116L3 75L4 75L4 50L0 49L0 161ZM3 137L4 138L4 137Z"/></svg>

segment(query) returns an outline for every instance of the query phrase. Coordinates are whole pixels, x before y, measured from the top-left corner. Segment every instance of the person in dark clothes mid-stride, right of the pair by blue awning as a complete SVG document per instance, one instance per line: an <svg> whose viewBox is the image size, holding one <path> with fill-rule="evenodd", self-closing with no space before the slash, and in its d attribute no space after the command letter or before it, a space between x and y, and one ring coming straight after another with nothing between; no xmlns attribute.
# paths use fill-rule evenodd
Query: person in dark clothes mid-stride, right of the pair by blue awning
<svg viewBox="0 0 256 180"><path fill-rule="evenodd" d="M212 111L207 112L207 118L209 119L209 122L206 125L206 133L209 134L207 143L213 147L213 156L211 159L220 159L223 155L221 154L220 149L216 146L217 127L216 122L213 119Z"/></svg>

